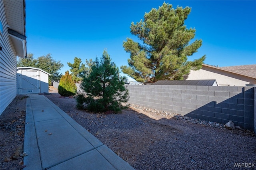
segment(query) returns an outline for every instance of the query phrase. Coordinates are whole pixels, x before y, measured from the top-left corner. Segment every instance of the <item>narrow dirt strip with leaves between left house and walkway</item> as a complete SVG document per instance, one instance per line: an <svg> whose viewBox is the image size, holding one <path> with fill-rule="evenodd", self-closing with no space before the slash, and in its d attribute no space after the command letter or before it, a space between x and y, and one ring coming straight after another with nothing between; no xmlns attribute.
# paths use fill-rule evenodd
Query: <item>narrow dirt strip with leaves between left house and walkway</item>
<svg viewBox="0 0 256 170"><path fill-rule="evenodd" d="M23 153L26 97L17 96L1 114L0 160L1 170L24 168Z"/></svg>

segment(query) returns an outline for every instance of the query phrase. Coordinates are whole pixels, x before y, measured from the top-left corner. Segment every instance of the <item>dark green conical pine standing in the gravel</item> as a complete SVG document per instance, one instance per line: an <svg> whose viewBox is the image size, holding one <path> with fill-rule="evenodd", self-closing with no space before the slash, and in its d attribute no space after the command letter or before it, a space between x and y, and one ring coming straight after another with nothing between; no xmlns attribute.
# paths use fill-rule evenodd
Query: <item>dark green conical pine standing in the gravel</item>
<svg viewBox="0 0 256 170"><path fill-rule="evenodd" d="M76 97L77 107L93 112L118 113L127 107L129 93L125 87L126 77L119 76L119 69L111 61L107 51L103 52L100 62L98 58L92 63L90 74L82 80L81 88L86 97L79 94Z"/></svg>

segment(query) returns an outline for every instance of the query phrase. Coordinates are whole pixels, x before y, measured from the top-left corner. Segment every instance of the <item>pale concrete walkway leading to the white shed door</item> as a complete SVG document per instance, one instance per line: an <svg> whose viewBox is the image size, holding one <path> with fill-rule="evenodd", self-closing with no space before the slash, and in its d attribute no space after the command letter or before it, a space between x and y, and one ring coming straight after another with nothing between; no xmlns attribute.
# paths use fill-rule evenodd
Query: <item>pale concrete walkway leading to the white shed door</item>
<svg viewBox="0 0 256 170"><path fill-rule="evenodd" d="M44 95L28 95L24 170L132 170Z"/></svg>

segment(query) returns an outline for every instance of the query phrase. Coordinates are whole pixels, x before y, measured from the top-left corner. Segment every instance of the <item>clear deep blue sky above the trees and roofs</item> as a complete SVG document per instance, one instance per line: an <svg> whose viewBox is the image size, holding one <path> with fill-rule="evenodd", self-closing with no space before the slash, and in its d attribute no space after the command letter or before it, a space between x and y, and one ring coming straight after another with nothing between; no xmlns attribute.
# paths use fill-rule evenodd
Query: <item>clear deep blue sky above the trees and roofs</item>
<svg viewBox="0 0 256 170"><path fill-rule="evenodd" d="M35 58L51 53L64 64L60 70L64 74L74 57L85 63L107 49L120 68L128 65L130 57L122 43L126 38L137 40L130 33L131 22L139 22L145 12L163 2L26 0L27 52ZM195 39L203 43L189 60L205 54L204 63L220 67L256 64L256 1L165 2L173 8L192 8L185 25L195 28Z"/></svg>

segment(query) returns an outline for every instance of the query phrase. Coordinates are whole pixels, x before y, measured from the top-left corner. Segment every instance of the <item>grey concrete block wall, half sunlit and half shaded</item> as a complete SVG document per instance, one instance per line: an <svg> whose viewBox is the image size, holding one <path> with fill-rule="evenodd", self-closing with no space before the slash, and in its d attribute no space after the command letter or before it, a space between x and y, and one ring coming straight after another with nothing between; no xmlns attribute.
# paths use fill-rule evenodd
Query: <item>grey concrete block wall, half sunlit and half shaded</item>
<svg viewBox="0 0 256 170"><path fill-rule="evenodd" d="M129 103L253 130L254 87L127 85Z"/></svg>

